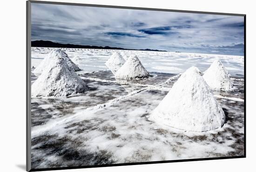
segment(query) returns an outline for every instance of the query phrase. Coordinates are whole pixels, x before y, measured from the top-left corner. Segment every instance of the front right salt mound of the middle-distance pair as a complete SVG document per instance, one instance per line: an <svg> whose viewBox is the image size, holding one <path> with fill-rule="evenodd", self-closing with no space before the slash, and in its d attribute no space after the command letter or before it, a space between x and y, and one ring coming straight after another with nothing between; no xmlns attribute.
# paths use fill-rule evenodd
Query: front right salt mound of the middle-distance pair
<svg viewBox="0 0 256 172"><path fill-rule="evenodd" d="M141 61L136 55L130 56L123 66L115 73L115 78L133 79L148 78L149 73L142 66Z"/></svg>

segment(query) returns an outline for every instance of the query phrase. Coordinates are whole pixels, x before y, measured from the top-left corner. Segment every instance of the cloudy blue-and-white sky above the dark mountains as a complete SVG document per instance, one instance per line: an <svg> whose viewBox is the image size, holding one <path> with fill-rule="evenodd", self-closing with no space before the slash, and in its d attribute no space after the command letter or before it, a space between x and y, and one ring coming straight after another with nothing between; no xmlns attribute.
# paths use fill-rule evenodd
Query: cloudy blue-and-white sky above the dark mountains
<svg viewBox="0 0 256 172"><path fill-rule="evenodd" d="M32 40L243 55L242 16L32 3Z"/></svg>

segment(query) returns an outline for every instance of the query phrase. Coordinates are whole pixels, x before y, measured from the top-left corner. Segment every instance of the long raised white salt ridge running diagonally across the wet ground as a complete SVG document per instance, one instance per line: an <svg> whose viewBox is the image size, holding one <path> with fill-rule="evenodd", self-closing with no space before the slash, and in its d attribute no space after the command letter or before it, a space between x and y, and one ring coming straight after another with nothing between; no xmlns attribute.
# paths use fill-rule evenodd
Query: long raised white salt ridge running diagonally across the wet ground
<svg viewBox="0 0 256 172"><path fill-rule="evenodd" d="M61 124L63 124L63 123L70 122L70 121L74 120L76 117L81 116L81 115L84 115L84 112L95 112L95 111L97 111L97 110L100 110L100 109L103 108L103 107L112 106L112 105L114 105L115 103L117 103L118 101L120 101L120 100L122 100L122 99L126 99L126 98L128 98L128 97L130 97L130 96L133 96L133 95L137 94L137 93L141 93L142 91L145 91L145 90L147 90L147 89L155 89L155 88L157 88L157 87L159 87L159 86L165 85L165 84L167 84L169 81L171 81L171 80L173 80L173 79L176 79L176 78L179 77L180 75L181 75L181 74L175 75L175 76L173 76L173 77L167 79L167 81L165 81L165 82L162 83L162 84L158 84L158 85L156 85L156 86L148 86L148 87L142 88L142 89L140 89L140 90L136 90L136 91L133 91L133 92L131 92L131 93L128 93L127 95L121 96L121 97L119 97L119 98L115 98L115 99L109 100L109 101L106 102L106 103L103 103L103 104L100 104L100 105L96 105L96 106L92 106L92 107L88 107L88 108L85 109L83 112L79 112L79 113L77 113L77 114L75 114L75 115L69 116L69 117L67 117L67 118L65 118L65 119L61 119L61 120L59 120L59 121L57 121L57 122L50 122L50 123L47 123L47 124L44 125L43 128L40 126L39 129L32 131L32 132L31 132L31 136L32 136L32 137L35 137L36 135L39 135L40 133L46 132L48 129L51 129L51 128L53 128L54 126L57 126L57 125L61 125ZM87 115L89 115L89 114L87 114ZM58 120L58 119L57 119L57 120Z"/></svg>

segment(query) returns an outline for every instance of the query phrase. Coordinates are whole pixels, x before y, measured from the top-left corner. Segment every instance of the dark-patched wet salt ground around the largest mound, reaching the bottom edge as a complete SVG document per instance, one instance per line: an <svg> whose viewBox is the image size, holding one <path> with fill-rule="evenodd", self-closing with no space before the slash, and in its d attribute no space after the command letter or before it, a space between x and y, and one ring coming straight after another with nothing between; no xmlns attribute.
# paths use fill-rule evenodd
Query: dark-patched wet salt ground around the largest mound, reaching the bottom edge
<svg viewBox="0 0 256 172"><path fill-rule="evenodd" d="M152 77L144 81L129 82L156 85L175 75L150 74ZM115 80L109 71L80 76ZM32 98L32 168L226 157L244 153L243 102L217 98L227 116L226 124L214 131L186 132L147 119L168 90L146 89L112 106L86 111L88 107L146 86L85 81L91 87L87 93L57 99ZM164 87L170 88L175 81ZM243 80L234 82L236 90L214 94L243 99Z"/></svg>

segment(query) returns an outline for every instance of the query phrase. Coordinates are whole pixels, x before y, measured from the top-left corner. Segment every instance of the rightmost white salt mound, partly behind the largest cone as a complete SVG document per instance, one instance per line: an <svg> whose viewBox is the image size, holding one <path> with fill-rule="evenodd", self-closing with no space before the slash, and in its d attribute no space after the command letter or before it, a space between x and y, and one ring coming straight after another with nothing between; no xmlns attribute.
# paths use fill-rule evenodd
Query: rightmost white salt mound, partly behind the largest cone
<svg viewBox="0 0 256 172"><path fill-rule="evenodd" d="M233 89L233 83L229 78L229 72L220 60L215 60L204 72L203 79L213 90L229 91Z"/></svg>

